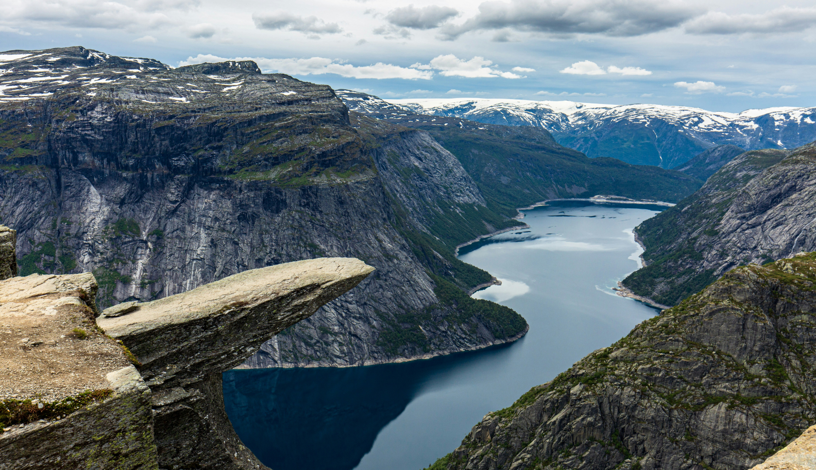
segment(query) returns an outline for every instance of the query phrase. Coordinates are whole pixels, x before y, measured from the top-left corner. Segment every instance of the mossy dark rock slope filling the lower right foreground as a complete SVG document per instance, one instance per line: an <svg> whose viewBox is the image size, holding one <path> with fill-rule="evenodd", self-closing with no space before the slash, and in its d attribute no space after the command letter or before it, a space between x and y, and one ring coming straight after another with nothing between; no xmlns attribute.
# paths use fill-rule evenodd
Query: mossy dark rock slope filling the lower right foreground
<svg viewBox="0 0 816 470"><path fill-rule="evenodd" d="M448 470L744 470L816 423L816 254L737 268L512 406Z"/></svg>

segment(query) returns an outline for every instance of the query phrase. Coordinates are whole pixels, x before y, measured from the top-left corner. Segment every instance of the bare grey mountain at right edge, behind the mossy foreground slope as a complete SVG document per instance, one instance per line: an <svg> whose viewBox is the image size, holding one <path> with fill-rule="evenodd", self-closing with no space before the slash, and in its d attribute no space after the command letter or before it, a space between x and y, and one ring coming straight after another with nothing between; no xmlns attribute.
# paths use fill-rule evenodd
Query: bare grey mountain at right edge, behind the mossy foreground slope
<svg viewBox="0 0 816 470"><path fill-rule="evenodd" d="M623 280L673 305L741 264L816 250L816 144L742 153L635 228L645 268Z"/></svg>

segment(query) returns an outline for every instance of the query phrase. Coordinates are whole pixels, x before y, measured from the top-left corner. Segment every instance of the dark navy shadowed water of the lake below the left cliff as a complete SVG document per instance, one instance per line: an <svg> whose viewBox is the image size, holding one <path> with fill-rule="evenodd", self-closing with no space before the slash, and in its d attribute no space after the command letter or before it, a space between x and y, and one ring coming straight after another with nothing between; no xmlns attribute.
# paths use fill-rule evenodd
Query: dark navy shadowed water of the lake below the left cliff
<svg viewBox="0 0 816 470"><path fill-rule="evenodd" d="M238 436L269 468L351 470L438 379L477 361L503 361L515 344L402 364L230 370L224 406Z"/></svg>

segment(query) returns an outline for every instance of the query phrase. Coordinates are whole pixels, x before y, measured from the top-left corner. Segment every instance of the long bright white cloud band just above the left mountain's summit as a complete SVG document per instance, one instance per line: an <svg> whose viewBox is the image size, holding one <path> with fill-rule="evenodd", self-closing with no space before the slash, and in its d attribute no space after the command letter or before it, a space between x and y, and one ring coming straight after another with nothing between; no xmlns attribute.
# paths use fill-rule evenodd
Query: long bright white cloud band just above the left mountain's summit
<svg viewBox="0 0 816 470"><path fill-rule="evenodd" d="M265 57L233 57L225 59L211 54L199 54L196 57L188 57L179 65L201 64L202 62L223 62L224 60L255 60L255 63L264 71L274 71L287 73L290 75L321 75L323 73L337 73L341 77L348 78L406 78L409 80L423 79L430 80L433 72L425 72L416 69L406 69L398 65L383 64L378 62L360 67L352 64L344 64L337 59L325 59L323 57L312 57L311 59L267 59Z"/></svg>

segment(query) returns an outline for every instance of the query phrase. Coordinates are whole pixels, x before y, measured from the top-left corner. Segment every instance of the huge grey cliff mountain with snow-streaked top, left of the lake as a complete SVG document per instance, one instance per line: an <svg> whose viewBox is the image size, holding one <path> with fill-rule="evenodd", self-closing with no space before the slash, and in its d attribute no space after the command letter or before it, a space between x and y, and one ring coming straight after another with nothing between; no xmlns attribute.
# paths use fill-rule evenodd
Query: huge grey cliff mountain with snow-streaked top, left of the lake
<svg viewBox="0 0 816 470"><path fill-rule="evenodd" d="M349 121L328 86L251 62L28 52L0 96L0 218L21 274L92 272L105 307L295 259L377 268L256 366L397 361L526 330L508 308L440 297L490 281L453 246L517 222L426 133Z"/></svg>

